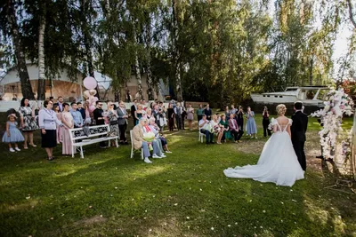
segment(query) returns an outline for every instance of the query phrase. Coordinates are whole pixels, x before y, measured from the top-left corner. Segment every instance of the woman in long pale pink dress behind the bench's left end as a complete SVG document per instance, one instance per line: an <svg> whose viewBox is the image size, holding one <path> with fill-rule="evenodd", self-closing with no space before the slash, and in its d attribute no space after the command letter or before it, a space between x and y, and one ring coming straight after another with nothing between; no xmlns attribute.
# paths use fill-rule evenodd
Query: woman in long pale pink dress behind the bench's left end
<svg viewBox="0 0 356 237"><path fill-rule="evenodd" d="M70 155L72 154L72 143L70 141L69 129L74 128L74 120L73 116L69 112L69 104L67 103L63 103L63 111L61 112L61 123L64 124L64 126L61 128L61 154Z"/></svg>

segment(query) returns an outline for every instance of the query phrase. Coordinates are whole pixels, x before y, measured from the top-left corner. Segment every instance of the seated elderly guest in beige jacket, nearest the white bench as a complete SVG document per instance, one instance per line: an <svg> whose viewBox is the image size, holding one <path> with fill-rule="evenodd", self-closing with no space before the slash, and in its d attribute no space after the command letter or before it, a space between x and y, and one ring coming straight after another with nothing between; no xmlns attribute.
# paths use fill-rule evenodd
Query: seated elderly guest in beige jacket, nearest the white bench
<svg viewBox="0 0 356 237"><path fill-rule="evenodd" d="M153 154L152 158L162 158L161 151L159 149L158 141L153 140L151 142L145 141L143 136L146 133L149 133L150 127L148 126L148 121L147 119L142 118L140 122L134 126L133 129L133 142L134 142L134 148L135 149L141 149L143 148L143 157L144 157L144 162L146 163L151 163L149 157L150 157L150 149L149 146L153 146Z"/></svg>

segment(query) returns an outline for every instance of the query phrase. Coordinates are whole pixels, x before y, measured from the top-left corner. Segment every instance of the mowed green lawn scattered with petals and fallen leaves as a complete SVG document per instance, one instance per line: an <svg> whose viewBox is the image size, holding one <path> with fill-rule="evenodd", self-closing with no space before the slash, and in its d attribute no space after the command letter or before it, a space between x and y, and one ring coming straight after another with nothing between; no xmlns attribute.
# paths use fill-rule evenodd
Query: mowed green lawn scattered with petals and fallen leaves
<svg viewBox="0 0 356 237"><path fill-rule="evenodd" d="M311 164L295 186L223 175L257 162L267 139L256 120L259 138L244 136L240 144L206 146L198 130L166 132L173 154L151 164L139 154L130 159L131 146L85 146L85 159L63 157L57 147L57 159L48 162L39 146L10 154L2 144L0 235L356 235L356 195L326 188L333 176L312 159L320 151L315 119L307 142ZM351 128L352 120L344 124Z"/></svg>

